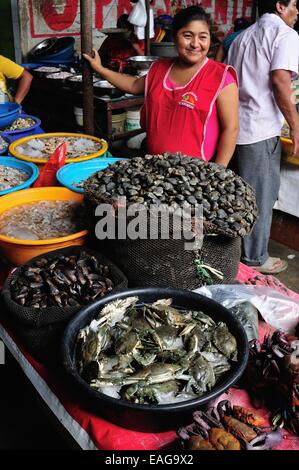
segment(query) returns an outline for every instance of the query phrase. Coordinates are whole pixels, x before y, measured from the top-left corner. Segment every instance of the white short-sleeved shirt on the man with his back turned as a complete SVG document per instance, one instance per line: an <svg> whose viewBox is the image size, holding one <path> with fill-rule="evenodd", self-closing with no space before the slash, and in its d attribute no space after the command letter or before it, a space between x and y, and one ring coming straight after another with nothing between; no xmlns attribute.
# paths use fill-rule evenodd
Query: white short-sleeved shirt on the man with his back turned
<svg viewBox="0 0 299 470"><path fill-rule="evenodd" d="M283 115L272 90L270 72L298 75L299 36L278 15L266 13L237 37L227 63L237 71L240 86L238 144L253 144L281 133ZM291 99L291 89L290 89Z"/></svg>

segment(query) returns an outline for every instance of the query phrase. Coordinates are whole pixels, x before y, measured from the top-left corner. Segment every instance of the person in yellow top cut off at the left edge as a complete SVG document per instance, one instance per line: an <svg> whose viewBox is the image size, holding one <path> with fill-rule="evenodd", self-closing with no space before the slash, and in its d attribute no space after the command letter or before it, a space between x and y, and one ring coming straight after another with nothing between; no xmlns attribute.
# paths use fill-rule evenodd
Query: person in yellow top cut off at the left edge
<svg viewBox="0 0 299 470"><path fill-rule="evenodd" d="M7 79L18 80L18 86L15 93L15 103L21 104L29 92L32 75L7 57L0 55L0 103L11 101L7 91Z"/></svg>

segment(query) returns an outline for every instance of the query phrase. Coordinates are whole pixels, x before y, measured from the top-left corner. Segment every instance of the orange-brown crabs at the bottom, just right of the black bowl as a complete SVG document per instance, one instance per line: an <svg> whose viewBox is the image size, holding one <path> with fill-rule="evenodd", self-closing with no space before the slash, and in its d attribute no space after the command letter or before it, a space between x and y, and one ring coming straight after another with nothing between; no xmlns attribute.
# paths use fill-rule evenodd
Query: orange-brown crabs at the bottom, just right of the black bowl
<svg viewBox="0 0 299 470"><path fill-rule="evenodd" d="M177 433L186 450L269 450L282 441L280 432L265 432L263 417L228 400L195 411L193 420Z"/></svg>

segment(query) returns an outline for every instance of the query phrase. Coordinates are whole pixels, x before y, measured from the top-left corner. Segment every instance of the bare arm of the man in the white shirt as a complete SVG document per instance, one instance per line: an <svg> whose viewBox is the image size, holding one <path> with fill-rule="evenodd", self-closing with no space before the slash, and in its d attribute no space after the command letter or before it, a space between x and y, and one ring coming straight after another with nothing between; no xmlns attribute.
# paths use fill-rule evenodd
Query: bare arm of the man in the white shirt
<svg viewBox="0 0 299 470"><path fill-rule="evenodd" d="M289 70L279 69L271 72L275 101L290 126L293 155L297 155L299 153L299 117L296 106L292 102L291 77L292 73Z"/></svg>

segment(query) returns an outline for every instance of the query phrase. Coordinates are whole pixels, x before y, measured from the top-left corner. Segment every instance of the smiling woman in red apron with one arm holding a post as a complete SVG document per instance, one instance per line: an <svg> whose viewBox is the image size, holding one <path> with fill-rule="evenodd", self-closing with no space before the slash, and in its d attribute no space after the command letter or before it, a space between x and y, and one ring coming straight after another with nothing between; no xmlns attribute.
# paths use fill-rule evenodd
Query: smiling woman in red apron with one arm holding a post
<svg viewBox="0 0 299 470"><path fill-rule="evenodd" d="M207 58L211 22L200 7L173 19L176 59L157 60L147 77L132 77L84 54L93 69L127 93L145 93L141 124L148 152L182 152L227 165L238 135L238 87L234 69Z"/></svg>

